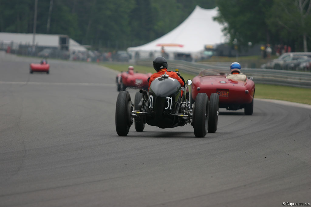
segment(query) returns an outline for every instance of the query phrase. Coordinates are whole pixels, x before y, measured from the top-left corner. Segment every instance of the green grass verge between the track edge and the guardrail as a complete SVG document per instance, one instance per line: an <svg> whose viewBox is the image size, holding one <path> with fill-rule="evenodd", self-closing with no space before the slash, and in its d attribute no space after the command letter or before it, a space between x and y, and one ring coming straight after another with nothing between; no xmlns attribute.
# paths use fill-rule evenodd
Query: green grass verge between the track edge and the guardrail
<svg viewBox="0 0 311 207"><path fill-rule="evenodd" d="M117 71L127 71L128 64L101 64L105 67ZM155 70L151 67L142 65L133 65L134 70L139 73L154 73ZM195 75L183 73L181 75L185 80L193 79ZM254 80L256 83L256 80ZM288 86L256 84L255 98L267 98L283 101L291 101L311 105L311 89L309 88L296 88Z"/></svg>

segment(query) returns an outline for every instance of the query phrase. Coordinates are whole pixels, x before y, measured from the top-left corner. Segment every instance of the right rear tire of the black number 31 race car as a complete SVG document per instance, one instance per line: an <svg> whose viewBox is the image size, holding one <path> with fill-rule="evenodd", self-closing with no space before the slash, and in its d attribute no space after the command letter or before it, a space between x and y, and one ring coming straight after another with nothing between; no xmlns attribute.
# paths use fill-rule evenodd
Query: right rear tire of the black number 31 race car
<svg viewBox="0 0 311 207"><path fill-rule="evenodd" d="M193 107L193 129L196 137L205 137L207 133L208 97L198 93Z"/></svg>

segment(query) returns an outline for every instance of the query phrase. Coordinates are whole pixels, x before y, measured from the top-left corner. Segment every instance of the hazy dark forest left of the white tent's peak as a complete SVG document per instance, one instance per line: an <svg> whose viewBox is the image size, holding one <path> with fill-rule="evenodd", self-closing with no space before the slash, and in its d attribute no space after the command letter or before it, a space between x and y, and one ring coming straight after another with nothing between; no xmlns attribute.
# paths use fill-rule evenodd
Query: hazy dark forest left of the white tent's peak
<svg viewBox="0 0 311 207"><path fill-rule="evenodd" d="M95 47L147 43L215 0L38 0L36 32L67 34ZM35 0L0 0L0 31L32 33Z"/></svg>

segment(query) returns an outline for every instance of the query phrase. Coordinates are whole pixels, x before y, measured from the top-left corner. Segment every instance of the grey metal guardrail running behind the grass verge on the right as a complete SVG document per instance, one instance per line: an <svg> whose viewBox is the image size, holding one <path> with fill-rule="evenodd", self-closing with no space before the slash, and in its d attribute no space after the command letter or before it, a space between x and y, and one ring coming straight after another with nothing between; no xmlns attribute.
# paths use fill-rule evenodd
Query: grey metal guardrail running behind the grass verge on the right
<svg viewBox="0 0 311 207"><path fill-rule="evenodd" d="M142 59L137 60L136 64L153 67L152 61L152 59ZM228 73L230 70L230 63L222 63L222 65L209 65L187 61L170 60L169 68L178 68L180 71L190 74L199 74L200 71L209 68L219 69L221 72ZM310 72L261 68L243 68L242 70L246 76L252 76L255 83L311 88Z"/></svg>

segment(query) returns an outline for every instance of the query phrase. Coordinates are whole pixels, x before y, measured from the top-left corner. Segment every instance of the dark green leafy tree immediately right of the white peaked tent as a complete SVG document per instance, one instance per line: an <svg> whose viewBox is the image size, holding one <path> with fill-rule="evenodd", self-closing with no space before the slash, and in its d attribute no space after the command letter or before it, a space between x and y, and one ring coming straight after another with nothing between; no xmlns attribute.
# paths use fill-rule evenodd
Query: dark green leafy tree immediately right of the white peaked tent
<svg viewBox="0 0 311 207"><path fill-rule="evenodd" d="M224 33L230 36L230 43L237 39L240 46L248 42L270 42L266 16L272 7L271 0L217 0L218 15L214 18L224 25Z"/></svg>

